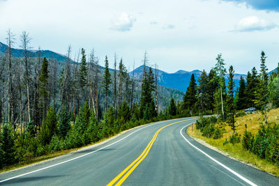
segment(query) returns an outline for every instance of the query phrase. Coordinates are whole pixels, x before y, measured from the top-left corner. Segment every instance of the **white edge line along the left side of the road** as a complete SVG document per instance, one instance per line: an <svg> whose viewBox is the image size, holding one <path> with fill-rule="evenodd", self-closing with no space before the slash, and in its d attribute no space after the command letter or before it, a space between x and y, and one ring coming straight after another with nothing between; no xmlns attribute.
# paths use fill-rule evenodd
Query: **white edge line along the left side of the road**
<svg viewBox="0 0 279 186"><path fill-rule="evenodd" d="M157 122L157 123L153 123L153 124L151 124L151 125L147 125L147 126L145 126L145 127L142 127L142 128L140 128L139 130L142 130L142 129L146 128L146 127L151 127L152 125L156 125L156 124L163 123L163 122L164 122L164 121L161 121L161 122L159 121L159 122ZM50 165L50 166L46 166L46 167L44 167L44 168L42 168L42 169L37 169L37 170L35 170L35 171L31 171L31 172L28 172L28 173L23 173L23 174L20 174L20 175L18 175L18 176L14 176L14 177L12 177L12 178L7 178L7 179L5 179L5 180L0 180L0 183L6 182L6 181L8 181L8 180L13 180L13 179L15 179L15 178L20 178L20 177L22 177L22 176L26 176L26 175L29 175L29 174L31 174L31 173L36 173L36 172L38 172L38 171L43 171L43 170L49 169L49 168L51 168L51 167L53 167L53 166L57 166L57 165L60 165L60 164L65 164L66 162L70 162L70 161L79 159L80 157L84 157L84 156L86 156L86 155L91 155L91 154L93 154L93 153L98 152L99 150L102 150L102 149L104 149L104 148L107 148L107 147L109 147L109 146L112 146L112 145L114 145L114 144L119 143L119 142L122 141L123 139L126 139L127 137L130 137L130 135L134 134L135 132L137 132L137 131L139 131L139 130L136 130L136 131L134 131L134 132L128 134L126 137L123 137L122 139L119 139L118 141L115 141L114 143L112 143L112 144L110 144L110 145L107 145L107 146L104 146L104 147L102 147L102 148L99 148L98 150L94 150L94 151L92 151L92 152L90 152L90 153L86 153L86 154L84 154L84 155L80 155L80 156L78 156L78 157L74 157L74 158L72 158L72 159L70 159L70 160L66 160L66 161L60 162L60 163L58 163L58 164L52 164L52 165Z"/></svg>

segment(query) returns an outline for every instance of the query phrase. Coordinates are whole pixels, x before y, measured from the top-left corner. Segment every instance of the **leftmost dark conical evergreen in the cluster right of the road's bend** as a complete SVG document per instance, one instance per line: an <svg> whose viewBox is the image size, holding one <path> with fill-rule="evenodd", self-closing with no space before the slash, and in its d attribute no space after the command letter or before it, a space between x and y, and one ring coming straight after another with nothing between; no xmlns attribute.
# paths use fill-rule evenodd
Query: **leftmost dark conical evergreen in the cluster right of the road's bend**
<svg viewBox="0 0 279 186"><path fill-rule="evenodd" d="M197 84L195 75L192 74L190 84L183 98L184 109L188 109L192 114L195 111L195 103L197 102Z"/></svg>

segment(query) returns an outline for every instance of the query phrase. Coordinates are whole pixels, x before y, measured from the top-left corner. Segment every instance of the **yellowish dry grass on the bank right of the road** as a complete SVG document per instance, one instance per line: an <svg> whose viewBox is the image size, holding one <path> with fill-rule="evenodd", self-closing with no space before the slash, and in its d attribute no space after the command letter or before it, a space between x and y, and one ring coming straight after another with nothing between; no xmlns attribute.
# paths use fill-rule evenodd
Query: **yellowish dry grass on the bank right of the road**
<svg viewBox="0 0 279 186"><path fill-rule="evenodd" d="M279 109L272 109L268 112L268 122L269 125L279 124ZM244 134L247 125L247 130L252 132L252 134L257 134L259 130L259 126L264 124L263 120L264 116L260 112L256 112L254 114L247 114L246 116L236 118L236 132L242 135ZM257 155L250 153L248 150L244 150L242 148L242 144L224 144L225 140L229 141L229 137L232 136L232 129L227 125L227 123L217 124L216 126L225 129L223 133L223 137L220 139L206 138L202 136L202 132L196 129L195 124L193 127L188 127L187 133L194 138L202 139L207 144L218 148L221 152L229 157L233 157L236 160L241 162L246 162L246 164L250 164L262 171L266 171L268 173L272 173L275 176L279 176L279 166L276 166L272 162L261 159L257 157ZM193 130L192 130L193 128Z"/></svg>

